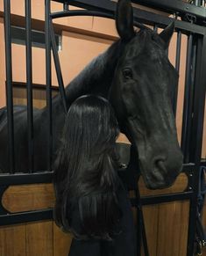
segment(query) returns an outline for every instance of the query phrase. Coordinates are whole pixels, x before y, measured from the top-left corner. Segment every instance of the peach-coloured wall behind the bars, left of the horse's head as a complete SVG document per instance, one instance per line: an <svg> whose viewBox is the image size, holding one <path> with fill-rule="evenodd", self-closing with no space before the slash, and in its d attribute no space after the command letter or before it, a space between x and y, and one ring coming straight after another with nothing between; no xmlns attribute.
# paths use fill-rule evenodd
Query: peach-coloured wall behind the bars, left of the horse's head
<svg viewBox="0 0 206 256"><path fill-rule="evenodd" d="M0 16L3 15L3 0L0 0ZM24 0L11 1L11 13L24 17ZM51 2L53 11L60 11L62 4ZM72 9L75 9L72 7ZM44 1L32 1L32 18L44 20ZM11 16L12 23L12 16ZM63 25L66 31L62 31L62 50L60 51L60 64L65 84L67 84L83 67L96 55L103 52L117 38L115 23L113 20L96 17L58 18L54 23ZM71 33L69 31L78 33ZM81 33L80 33L81 32ZM90 33L90 35L82 35ZM5 74L4 74L4 26L0 17L0 107L5 106ZM110 34L110 39L108 38ZM87 54L86 54L87 53ZM82 58L82 55L84 56ZM32 48L32 77L33 83L45 84L45 50ZM52 84L57 85L57 78L52 65ZM12 44L12 72L13 81L25 82L25 46Z"/></svg>

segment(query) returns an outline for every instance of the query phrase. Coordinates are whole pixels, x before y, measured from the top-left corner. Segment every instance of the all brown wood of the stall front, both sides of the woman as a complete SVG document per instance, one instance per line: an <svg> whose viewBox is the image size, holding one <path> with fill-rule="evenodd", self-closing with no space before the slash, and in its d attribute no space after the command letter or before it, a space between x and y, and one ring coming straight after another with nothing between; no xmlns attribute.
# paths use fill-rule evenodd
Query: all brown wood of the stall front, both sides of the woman
<svg viewBox="0 0 206 256"><path fill-rule="evenodd" d="M155 192L142 180L139 187L141 195L174 193L187 187L187 178L181 174L173 187ZM53 208L53 201L52 184L11 186L3 196L4 208L12 213ZM144 217L151 256L186 256L188 201L145 206ZM0 227L0 256L67 256L71 241L52 220Z"/></svg>

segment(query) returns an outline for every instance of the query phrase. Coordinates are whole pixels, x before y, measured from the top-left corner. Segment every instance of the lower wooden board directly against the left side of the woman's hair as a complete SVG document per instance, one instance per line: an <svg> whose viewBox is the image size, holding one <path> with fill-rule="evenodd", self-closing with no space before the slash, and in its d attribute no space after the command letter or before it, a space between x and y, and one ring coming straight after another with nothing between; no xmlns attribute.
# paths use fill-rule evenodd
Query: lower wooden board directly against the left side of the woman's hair
<svg viewBox="0 0 206 256"><path fill-rule="evenodd" d="M67 256L72 236L60 230L55 223L53 223L53 256Z"/></svg>

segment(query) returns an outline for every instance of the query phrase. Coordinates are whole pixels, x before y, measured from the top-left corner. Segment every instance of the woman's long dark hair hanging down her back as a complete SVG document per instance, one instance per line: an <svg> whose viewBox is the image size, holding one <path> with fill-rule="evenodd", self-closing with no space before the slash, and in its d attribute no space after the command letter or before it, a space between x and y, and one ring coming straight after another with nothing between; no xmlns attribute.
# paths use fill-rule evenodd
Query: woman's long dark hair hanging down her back
<svg viewBox="0 0 206 256"><path fill-rule="evenodd" d="M121 216L115 142L119 129L110 103L94 95L70 106L54 163L54 219L75 238L111 239ZM81 229L72 224L76 202Z"/></svg>

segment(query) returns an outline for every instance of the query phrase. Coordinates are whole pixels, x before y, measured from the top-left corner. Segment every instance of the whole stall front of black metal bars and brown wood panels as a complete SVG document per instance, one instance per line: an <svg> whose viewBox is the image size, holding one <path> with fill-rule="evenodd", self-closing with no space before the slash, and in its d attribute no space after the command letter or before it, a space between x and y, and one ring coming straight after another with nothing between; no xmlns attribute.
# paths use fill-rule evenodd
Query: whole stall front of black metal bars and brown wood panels
<svg viewBox="0 0 206 256"><path fill-rule="evenodd" d="M51 168L51 138L53 133L51 48L62 103L65 111L67 111L64 83L52 21L56 18L71 16L114 18L116 3L109 0L60 0L56 2L62 4L62 11L51 11L50 0L45 0L47 140L50 147L47 153L47 170L33 172L32 7L31 1L25 0L25 22L23 23L25 24L26 34L26 91L30 168L28 173L18 173L18 170L15 170L13 150L13 69L11 51L11 25L12 20L15 18L17 20L17 17L11 15L11 2L10 0L4 0L4 12L2 13L4 15L5 84L11 166L10 173L0 176L0 256L36 256L39 253L44 256L66 256L72 238L63 234L55 226L52 209L54 197L51 184L53 177ZM176 88L174 100L174 113L181 127L179 137L181 150L184 154L183 172L173 187L155 192L147 190L140 179L140 201L133 197L131 191L131 202L134 206L134 217L138 223L137 226L139 227L139 220L142 220L140 206L143 206L145 219L146 238L144 226L138 229L139 241L140 238L143 238L144 245L140 249L141 243L138 241L139 255L192 256L195 240L198 170L201 165L205 165L205 159L204 162L202 161L202 133L206 89L206 72L204 70L206 66L206 13L205 9L200 6L203 1L195 1L197 6L178 0L135 0L132 2L135 6L135 21L152 26L155 30L160 30L175 19L174 49L171 58L173 58L175 69L180 73L180 84L183 84L182 93L180 88ZM163 10L168 15L172 14L173 18L151 12L151 9L149 11L139 9L135 4L153 8L153 10ZM71 10L70 5L84 10ZM114 40L115 36L111 39ZM186 47L186 62L182 64L182 52ZM178 106L178 100L183 102L182 107ZM140 211L137 211L137 208L140 208Z"/></svg>

